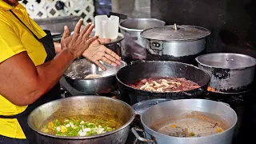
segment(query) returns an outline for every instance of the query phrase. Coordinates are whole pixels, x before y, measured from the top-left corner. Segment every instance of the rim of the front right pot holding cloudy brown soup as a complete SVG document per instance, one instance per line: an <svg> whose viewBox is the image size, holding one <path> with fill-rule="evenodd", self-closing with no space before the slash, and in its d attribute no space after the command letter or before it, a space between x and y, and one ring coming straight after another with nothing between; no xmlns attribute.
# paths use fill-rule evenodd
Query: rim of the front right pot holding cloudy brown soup
<svg viewBox="0 0 256 144"><path fill-rule="evenodd" d="M217 102L217 101L213 101L213 100L209 100L209 99L200 99L200 98L193 98L193 99L176 99L176 100L172 100L172 101L168 101L168 102L174 102L174 101L191 101L191 100L200 100L200 101L208 101L208 102L214 102L214 103L218 103L220 105L223 105L223 106L226 106L224 103L222 102ZM154 105L154 106L159 106L159 105L163 105L164 103L166 102L162 102L162 103L159 103L158 105ZM153 109L154 106L151 106L148 110L150 109ZM204 137L199 137L199 138L210 138L210 137L214 137L214 136L218 136L218 135L222 135L222 134L226 134L228 131L230 131L231 129L234 128L234 126L236 126L237 122L238 122L238 114L234 111L234 109L232 109L230 106L226 106L228 109L230 109L232 112L234 112L235 114L235 122L232 126L230 126L227 130L224 130L222 133L217 133L217 134L212 134L212 135L207 135L207 136L204 136ZM147 111L147 110L146 110ZM140 119L141 119L141 122L142 122L142 126L145 126L147 130L151 130L154 134L158 134L158 135L161 135L162 137L166 137L166 138L175 138L175 139L198 139L198 137L192 137L192 138L182 138L182 137L174 137L174 136L169 136L169 135L166 135L166 134L161 134L155 130L152 130L149 126L146 126L146 124L142 121L142 116L146 113L146 111L140 115ZM151 135L151 134L150 134Z"/></svg>

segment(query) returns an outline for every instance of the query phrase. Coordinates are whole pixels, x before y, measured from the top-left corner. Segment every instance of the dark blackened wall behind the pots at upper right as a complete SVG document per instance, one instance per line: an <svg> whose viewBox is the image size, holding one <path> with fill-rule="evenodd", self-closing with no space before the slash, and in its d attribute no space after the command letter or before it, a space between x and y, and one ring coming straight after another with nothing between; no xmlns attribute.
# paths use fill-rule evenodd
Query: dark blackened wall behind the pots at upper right
<svg viewBox="0 0 256 144"><path fill-rule="evenodd" d="M151 0L151 18L169 25L203 26L212 31L209 52L254 54L256 50L255 0Z"/></svg>

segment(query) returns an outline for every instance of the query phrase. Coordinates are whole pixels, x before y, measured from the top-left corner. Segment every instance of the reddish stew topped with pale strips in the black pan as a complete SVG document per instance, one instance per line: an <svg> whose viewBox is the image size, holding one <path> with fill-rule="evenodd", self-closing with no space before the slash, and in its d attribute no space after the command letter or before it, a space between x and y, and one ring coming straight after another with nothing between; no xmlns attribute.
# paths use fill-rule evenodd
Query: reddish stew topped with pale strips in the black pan
<svg viewBox="0 0 256 144"><path fill-rule="evenodd" d="M155 92L178 92L197 89L200 86L186 78L145 78L130 86Z"/></svg>

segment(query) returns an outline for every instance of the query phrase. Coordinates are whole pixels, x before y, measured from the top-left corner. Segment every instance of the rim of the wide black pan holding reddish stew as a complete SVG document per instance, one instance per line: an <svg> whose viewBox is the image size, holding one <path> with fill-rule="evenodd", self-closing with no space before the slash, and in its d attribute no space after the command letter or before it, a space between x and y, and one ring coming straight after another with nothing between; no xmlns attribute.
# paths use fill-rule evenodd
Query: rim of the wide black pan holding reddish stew
<svg viewBox="0 0 256 144"><path fill-rule="evenodd" d="M195 69L202 70L201 68L199 68L199 67L197 67L197 66L194 66L194 65L191 65L191 64L187 64L187 63L182 63L182 62L175 62L175 61L142 61L142 62L136 62L136 63L134 63L134 64L132 64L132 65L136 65L136 64L139 64L139 63L149 63L149 62L163 62L163 63L174 62L174 63L184 64L184 65L186 65L186 66L192 66L192 67L194 67ZM128 66L130 66L130 65L128 65ZM126 67L126 66L123 66L122 68L124 68L124 67ZM120 70L122 70L122 68L121 68ZM118 70L118 72L119 72L120 70ZM118 78L118 72L117 72L117 74L116 74L116 78L117 78L118 82L120 82L122 85L124 85L124 86L126 86L126 87L129 87L129 88L132 89L132 90L139 90L139 91L143 91L143 92L150 93L150 94L168 94L168 92L158 92L158 91L147 91L147 90L135 89L134 87L129 86L129 85L127 85L126 83L122 82L122 81ZM208 85L209 82L210 82L210 75L209 75L208 73L206 73L205 70L202 70L202 72L205 73L205 74L207 75L208 79L209 79L209 81L206 83L206 85ZM204 86L206 86L206 85L204 85ZM202 86L200 86L199 88L202 88ZM193 90L197 90L197 89L193 89ZM190 91L190 90L184 90L184 91L182 91L182 92L189 92L189 91ZM175 94L175 93L178 94L178 93L180 93L180 92L181 92L181 91L174 91L174 92L170 92L170 93L172 93L172 94Z"/></svg>

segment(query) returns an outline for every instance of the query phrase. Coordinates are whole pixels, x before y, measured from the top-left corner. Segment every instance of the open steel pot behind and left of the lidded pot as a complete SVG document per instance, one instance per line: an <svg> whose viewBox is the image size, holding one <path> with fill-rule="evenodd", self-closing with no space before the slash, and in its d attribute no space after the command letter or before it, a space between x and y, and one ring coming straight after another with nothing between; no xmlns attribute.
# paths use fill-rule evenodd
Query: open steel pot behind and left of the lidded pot
<svg viewBox="0 0 256 144"><path fill-rule="evenodd" d="M130 18L119 23L120 32L125 39L121 42L122 58L130 63L134 60L146 59L149 42L142 38L140 33L152 27L165 26L163 22L155 18Z"/></svg>

